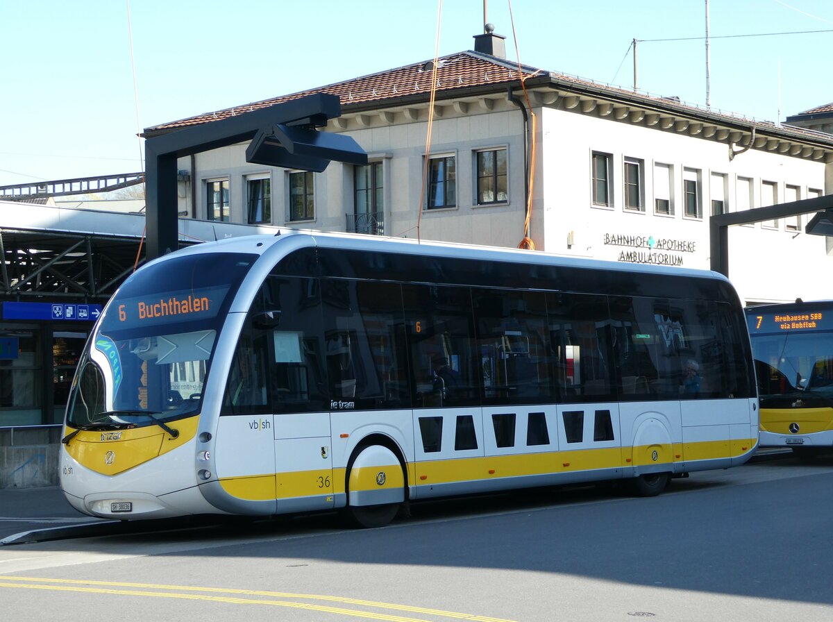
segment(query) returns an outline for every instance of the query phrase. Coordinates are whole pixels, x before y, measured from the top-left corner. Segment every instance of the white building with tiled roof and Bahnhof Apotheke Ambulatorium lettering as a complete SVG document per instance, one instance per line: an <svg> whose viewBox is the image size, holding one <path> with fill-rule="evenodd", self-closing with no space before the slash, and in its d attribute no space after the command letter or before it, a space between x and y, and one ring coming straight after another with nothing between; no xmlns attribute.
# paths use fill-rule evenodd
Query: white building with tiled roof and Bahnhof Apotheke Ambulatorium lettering
<svg viewBox="0 0 833 622"><path fill-rule="evenodd" d="M830 134L519 71L501 37L475 38L479 51L438 59L432 109L433 62L420 62L145 135L330 92L342 117L326 130L351 135L367 167L313 174L249 164L246 144L204 152L179 162L180 214L491 246L528 233L540 251L704 269L712 214L833 192ZM743 300L833 297L833 244L804 233L808 217L730 230Z"/></svg>

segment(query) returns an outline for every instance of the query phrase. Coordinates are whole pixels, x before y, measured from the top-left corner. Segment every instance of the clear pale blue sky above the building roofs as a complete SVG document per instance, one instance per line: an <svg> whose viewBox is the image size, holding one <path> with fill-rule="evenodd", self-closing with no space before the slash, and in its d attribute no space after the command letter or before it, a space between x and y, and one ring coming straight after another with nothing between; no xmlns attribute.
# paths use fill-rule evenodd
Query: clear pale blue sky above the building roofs
<svg viewBox="0 0 833 622"><path fill-rule="evenodd" d="M142 171L146 127L471 50L483 13L483 0L0 0L0 186ZM632 88L636 38L642 92L705 107L708 67L712 110L783 121L833 102L830 0L487 0L486 19L509 60L546 71Z"/></svg>

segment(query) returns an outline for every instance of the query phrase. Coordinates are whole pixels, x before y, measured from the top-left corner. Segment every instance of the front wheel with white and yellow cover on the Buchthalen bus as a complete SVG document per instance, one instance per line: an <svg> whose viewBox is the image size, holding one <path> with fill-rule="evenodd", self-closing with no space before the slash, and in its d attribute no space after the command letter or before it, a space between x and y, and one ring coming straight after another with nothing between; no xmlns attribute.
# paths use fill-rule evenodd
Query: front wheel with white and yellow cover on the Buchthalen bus
<svg viewBox="0 0 833 622"><path fill-rule="evenodd" d="M345 470L349 523L382 527L407 502L407 471L397 444L386 435L370 435L353 450Z"/></svg>

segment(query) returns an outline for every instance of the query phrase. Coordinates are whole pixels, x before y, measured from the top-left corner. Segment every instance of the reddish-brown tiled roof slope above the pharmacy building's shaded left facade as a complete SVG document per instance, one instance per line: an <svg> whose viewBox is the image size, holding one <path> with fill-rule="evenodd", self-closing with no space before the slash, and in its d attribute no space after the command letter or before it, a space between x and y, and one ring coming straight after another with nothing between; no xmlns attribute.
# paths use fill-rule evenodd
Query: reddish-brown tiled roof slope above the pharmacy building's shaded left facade
<svg viewBox="0 0 833 622"><path fill-rule="evenodd" d="M196 117L188 117L179 121L148 127L146 132L164 132L166 130L217 121L270 107L277 103L289 102L293 99L314 93L323 92L337 95L341 99L342 110L355 104L383 102L385 100L399 99L413 95L426 96L431 92L431 75L433 71L430 63L431 61L418 62L405 67L398 67L397 69L387 69L383 72L356 77L346 82L337 82L326 87L317 87L307 91L292 93L291 95L272 97L270 99L264 99L261 102L252 102L243 106L218 110L217 112L207 112ZM527 66L521 66L521 69L527 75L538 71L535 67ZM444 92L454 91L460 88L509 84L511 82L517 82L519 76L520 72L516 63L513 65L511 62L506 62L478 52L459 52L438 59L436 94L437 97L441 97Z"/></svg>

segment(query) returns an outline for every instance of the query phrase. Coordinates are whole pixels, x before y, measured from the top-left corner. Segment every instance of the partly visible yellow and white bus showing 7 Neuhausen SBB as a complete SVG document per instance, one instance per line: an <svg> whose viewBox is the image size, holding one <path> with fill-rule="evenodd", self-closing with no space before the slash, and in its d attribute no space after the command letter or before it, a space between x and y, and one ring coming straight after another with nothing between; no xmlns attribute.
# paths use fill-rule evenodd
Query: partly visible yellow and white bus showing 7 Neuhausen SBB
<svg viewBox="0 0 833 622"><path fill-rule="evenodd" d="M833 301L750 306L761 446L833 449Z"/></svg>

